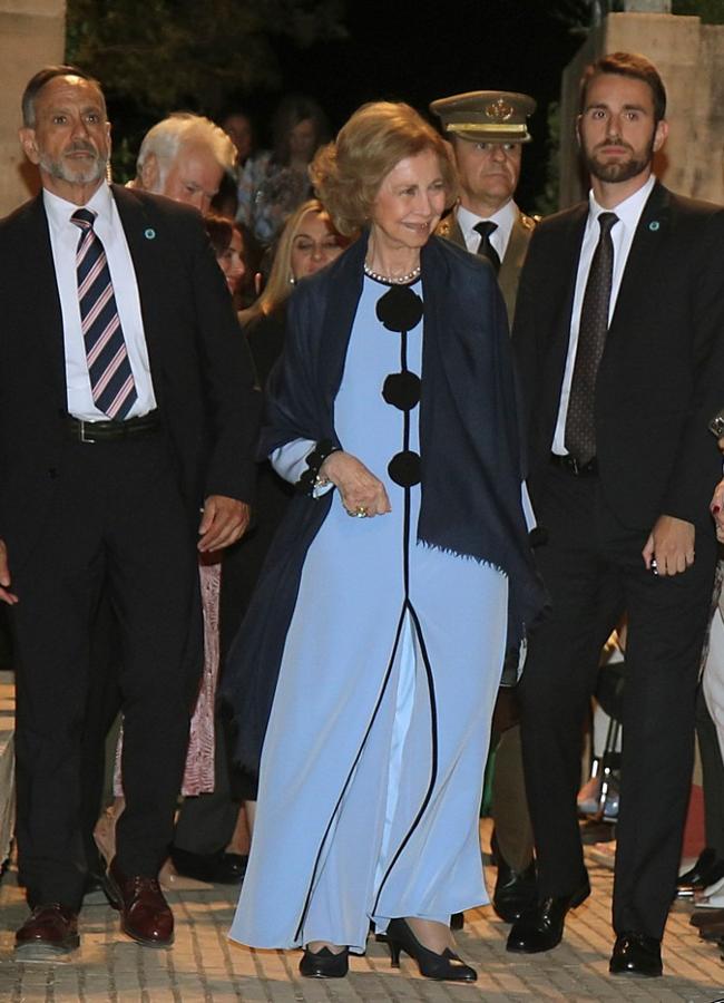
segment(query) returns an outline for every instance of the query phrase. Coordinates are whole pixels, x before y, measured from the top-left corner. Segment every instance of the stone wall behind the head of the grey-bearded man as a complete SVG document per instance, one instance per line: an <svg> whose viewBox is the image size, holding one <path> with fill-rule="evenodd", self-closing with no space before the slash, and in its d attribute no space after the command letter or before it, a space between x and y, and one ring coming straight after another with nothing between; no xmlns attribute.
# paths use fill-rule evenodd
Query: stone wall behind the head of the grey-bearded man
<svg viewBox="0 0 724 1003"><path fill-rule="evenodd" d="M20 97L40 67L62 62L66 0L0 0L0 216L38 191L38 173L18 143Z"/></svg>

